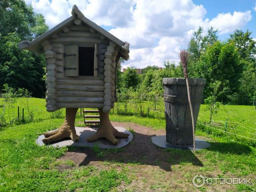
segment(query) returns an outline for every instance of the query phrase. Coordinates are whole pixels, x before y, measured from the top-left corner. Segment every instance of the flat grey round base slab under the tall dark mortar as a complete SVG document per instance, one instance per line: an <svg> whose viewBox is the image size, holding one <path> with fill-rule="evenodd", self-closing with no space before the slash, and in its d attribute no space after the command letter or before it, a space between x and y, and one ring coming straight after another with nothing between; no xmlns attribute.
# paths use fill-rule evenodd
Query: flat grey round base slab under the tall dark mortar
<svg viewBox="0 0 256 192"><path fill-rule="evenodd" d="M179 149L183 149L183 150L192 150L193 151L193 145L172 145L172 144L166 142L166 135L151 137L151 141L152 141L152 143L154 143L157 146L162 147L162 148L179 148ZM204 148L208 148L210 146L211 145L209 143L207 143L206 141L195 138L195 150L196 151L204 149Z"/></svg>

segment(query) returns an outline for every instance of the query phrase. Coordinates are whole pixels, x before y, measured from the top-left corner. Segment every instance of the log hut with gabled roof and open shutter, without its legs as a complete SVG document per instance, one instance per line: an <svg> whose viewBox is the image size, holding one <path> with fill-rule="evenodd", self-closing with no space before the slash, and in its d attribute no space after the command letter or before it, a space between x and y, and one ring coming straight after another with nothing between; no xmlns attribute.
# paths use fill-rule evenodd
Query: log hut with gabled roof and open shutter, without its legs
<svg viewBox="0 0 256 192"><path fill-rule="evenodd" d="M119 59L128 60L129 44L87 19L76 5L72 16L20 49L44 54L46 108L102 108L108 113L116 98Z"/></svg>

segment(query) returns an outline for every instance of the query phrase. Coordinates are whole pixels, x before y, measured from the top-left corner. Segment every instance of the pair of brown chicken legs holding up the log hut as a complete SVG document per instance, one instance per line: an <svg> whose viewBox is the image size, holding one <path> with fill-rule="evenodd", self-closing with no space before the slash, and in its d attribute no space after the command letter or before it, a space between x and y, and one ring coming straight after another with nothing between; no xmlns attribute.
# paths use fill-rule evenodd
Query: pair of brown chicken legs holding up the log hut
<svg viewBox="0 0 256 192"><path fill-rule="evenodd" d="M73 141L78 141L79 137L76 134L75 119L78 108L66 108L66 116L64 123L55 131L49 131L44 133L44 143L52 143L64 138L70 138ZM128 138L129 134L121 133L117 131L110 122L109 113L104 113L102 109L99 109L100 125L99 129L93 136L87 138L87 141L93 142L100 138L105 138L114 145L117 144L119 138Z"/></svg>

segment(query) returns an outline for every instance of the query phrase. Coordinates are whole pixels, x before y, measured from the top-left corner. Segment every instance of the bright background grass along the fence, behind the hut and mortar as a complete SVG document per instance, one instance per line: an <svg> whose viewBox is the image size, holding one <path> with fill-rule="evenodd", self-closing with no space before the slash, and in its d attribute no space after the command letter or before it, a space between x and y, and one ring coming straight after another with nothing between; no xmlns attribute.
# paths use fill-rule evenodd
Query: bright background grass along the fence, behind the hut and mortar
<svg viewBox="0 0 256 192"><path fill-rule="evenodd" d="M27 105L29 104L29 105ZM3 99L0 99L0 116L3 113ZM154 111L155 105L152 102L142 102L143 116L140 114L140 103L129 102L129 103L116 103L115 108L111 110L110 118L112 121L121 122L136 122L139 125L148 126L153 129L163 129L165 128L165 116L164 116L164 102L158 102L156 105L157 112ZM2 106L2 107L1 107ZM38 98L18 98L17 102L13 105L13 108L5 111L6 122L10 122L9 119L17 119L17 107L20 107L20 119L22 116L22 108L24 108L24 118L25 122L31 122L29 119L29 111L33 115L33 122L38 122L44 119L55 119L64 118L64 109L61 111L48 113L45 110L45 100ZM27 107L29 106L29 108ZM151 110L148 113L148 108ZM28 111L29 109L29 111ZM80 111L77 114L77 121L83 121L83 118L79 116ZM123 114L123 115L122 115ZM131 115L128 115L131 114ZM149 115L149 117L145 117ZM10 116L10 117L9 117ZM224 130L225 121L227 120L226 131L239 134L245 137L256 139L256 110L253 106L245 105L221 105L217 115L212 118L211 127L215 127ZM23 123L21 121L16 122ZM198 129L203 129L204 131L210 133L218 133L223 135L223 132L213 130L212 128L207 128L199 123L209 123L209 110L206 110L206 105L201 105L201 109L198 116ZM82 126L82 125L78 125ZM211 130L211 131L209 131ZM225 134L227 135L227 134ZM239 137L240 139L242 137ZM245 139L245 138L244 138ZM246 140L246 139L245 139ZM256 140L254 140L256 142Z"/></svg>

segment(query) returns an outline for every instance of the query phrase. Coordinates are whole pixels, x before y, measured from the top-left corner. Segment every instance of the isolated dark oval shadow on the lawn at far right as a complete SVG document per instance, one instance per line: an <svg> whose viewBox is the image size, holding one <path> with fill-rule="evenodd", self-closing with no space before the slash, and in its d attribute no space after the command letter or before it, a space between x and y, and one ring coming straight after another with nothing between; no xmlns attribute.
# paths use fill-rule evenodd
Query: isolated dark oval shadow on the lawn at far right
<svg viewBox="0 0 256 192"><path fill-rule="evenodd" d="M208 151L216 151L223 154L249 154L251 149L248 145L237 142L209 142L212 146L207 148Z"/></svg>

